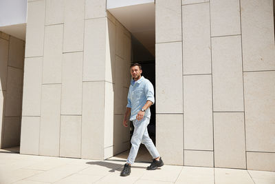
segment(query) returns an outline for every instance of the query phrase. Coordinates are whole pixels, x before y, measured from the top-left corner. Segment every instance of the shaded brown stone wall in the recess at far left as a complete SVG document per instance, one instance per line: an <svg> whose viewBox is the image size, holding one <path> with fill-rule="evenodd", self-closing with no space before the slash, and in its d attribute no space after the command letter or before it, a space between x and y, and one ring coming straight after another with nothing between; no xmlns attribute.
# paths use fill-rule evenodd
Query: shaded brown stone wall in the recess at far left
<svg viewBox="0 0 275 184"><path fill-rule="evenodd" d="M0 32L0 148L20 145L25 41Z"/></svg>

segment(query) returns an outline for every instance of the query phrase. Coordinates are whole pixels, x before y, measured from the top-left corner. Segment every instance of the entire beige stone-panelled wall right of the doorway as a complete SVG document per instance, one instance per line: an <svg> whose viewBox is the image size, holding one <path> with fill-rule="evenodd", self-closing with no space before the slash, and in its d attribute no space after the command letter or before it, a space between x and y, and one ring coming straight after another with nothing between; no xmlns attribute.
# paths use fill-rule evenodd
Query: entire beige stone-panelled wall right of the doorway
<svg viewBox="0 0 275 184"><path fill-rule="evenodd" d="M272 0L157 0L157 148L166 163L275 171Z"/></svg>

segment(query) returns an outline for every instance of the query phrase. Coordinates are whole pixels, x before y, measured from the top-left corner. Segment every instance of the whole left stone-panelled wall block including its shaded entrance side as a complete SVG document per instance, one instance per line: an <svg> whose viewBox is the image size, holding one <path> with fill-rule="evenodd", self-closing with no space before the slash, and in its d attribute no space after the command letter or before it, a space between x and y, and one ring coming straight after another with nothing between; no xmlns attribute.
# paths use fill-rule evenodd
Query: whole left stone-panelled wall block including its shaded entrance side
<svg viewBox="0 0 275 184"><path fill-rule="evenodd" d="M106 159L126 150L130 51L106 1L28 1L20 153Z"/></svg>

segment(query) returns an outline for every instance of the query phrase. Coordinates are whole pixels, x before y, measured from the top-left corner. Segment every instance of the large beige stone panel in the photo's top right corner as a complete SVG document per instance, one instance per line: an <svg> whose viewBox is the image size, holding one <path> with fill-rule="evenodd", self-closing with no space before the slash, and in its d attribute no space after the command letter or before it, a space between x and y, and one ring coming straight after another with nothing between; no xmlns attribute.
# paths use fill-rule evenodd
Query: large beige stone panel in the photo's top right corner
<svg viewBox="0 0 275 184"><path fill-rule="evenodd" d="M241 0L243 70L275 70L272 0Z"/></svg>

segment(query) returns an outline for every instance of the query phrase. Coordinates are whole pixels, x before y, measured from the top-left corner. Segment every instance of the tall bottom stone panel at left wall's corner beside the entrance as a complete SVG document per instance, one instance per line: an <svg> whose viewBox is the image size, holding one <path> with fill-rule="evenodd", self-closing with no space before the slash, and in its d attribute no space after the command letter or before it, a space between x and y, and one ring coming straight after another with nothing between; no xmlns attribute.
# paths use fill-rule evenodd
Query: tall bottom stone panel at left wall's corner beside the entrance
<svg viewBox="0 0 275 184"><path fill-rule="evenodd" d="M104 159L104 83L83 83L82 159Z"/></svg>

